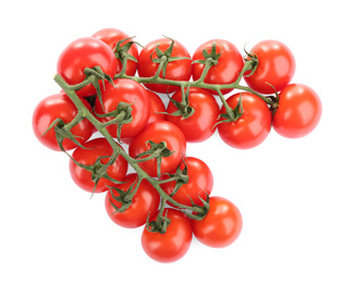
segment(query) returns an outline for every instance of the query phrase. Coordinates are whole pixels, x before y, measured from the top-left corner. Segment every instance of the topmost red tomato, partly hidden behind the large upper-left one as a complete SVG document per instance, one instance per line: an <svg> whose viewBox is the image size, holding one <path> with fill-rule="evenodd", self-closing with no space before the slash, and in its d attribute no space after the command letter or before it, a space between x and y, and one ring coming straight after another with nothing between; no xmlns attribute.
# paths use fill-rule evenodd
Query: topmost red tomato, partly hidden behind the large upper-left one
<svg viewBox="0 0 353 283"><path fill-rule="evenodd" d="M102 28L98 32L96 32L95 34L93 34L93 37L100 39L101 41L106 42L111 50L113 50L117 46L117 44L120 40L130 38L130 36L127 36L125 33L117 29L117 28ZM126 40L124 42L122 42L121 46L124 46L125 44L130 42L132 40ZM132 57L138 58L138 49L136 45L132 45L127 51L127 54L131 54ZM122 70L122 63L121 61L117 58L117 64L118 64L118 69L117 69L117 73L120 73ZM133 61L133 60L127 60L126 63L126 75L133 76L135 75L137 70L137 62Z"/></svg>

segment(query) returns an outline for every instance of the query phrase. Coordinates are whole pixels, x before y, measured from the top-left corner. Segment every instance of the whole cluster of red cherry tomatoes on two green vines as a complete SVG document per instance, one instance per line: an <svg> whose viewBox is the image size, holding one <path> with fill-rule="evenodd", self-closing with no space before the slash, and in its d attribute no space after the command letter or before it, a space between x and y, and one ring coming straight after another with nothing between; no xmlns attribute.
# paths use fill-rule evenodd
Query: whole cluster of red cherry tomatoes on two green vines
<svg viewBox="0 0 353 283"><path fill-rule="evenodd" d="M72 150L74 183L105 193L118 225L145 225L146 254L172 262L186 254L193 234L224 247L243 224L234 204L211 196L212 173L186 155L187 143L216 130L239 149L260 145L271 128L284 137L307 135L321 102L308 86L291 83L294 72L291 50L276 40L258 42L245 57L223 39L200 45L193 56L167 37L138 52L133 38L105 28L62 51L54 77L61 90L38 103L33 130L50 149Z"/></svg>

